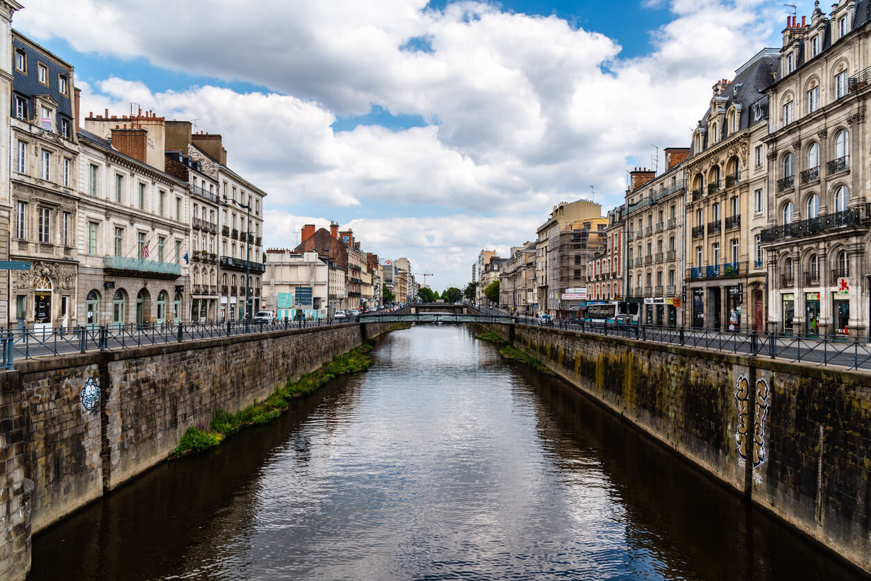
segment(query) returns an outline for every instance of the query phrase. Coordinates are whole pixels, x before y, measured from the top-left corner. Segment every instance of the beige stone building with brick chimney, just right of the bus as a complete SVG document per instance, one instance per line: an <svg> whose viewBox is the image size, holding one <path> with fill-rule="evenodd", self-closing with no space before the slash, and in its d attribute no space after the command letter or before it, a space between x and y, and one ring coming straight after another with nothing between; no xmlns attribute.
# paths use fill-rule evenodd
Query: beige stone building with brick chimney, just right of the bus
<svg viewBox="0 0 871 581"><path fill-rule="evenodd" d="M626 193L626 295L648 325L683 324L684 199L689 148L665 149L665 171L630 173Z"/></svg>

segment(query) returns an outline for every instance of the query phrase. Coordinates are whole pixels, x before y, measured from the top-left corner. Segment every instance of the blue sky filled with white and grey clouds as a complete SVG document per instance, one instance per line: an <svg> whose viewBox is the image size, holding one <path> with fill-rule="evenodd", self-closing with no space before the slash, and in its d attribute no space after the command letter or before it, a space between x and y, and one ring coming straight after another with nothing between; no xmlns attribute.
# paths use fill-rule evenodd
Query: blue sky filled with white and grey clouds
<svg viewBox="0 0 871 581"><path fill-rule="evenodd" d="M782 0L22 0L82 109L220 133L267 191L265 245L336 220L436 290L533 240L561 200L618 205L689 144L711 85L780 46ZM813 3L799 2L799 16ZM420 280L420 277L418 277Z"/></svg>

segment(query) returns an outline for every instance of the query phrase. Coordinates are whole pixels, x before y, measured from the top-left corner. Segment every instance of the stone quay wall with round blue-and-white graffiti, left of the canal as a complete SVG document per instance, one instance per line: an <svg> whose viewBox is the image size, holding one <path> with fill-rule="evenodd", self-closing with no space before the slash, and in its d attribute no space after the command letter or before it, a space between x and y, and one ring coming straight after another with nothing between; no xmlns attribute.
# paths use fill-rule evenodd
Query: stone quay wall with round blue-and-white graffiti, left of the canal
<svg viewBox="0 0 871 581"><path fill-rule="evenodd" d="M237 411L385 332L346 324L17 361L0 373L0 578L30 535L164 461L190 426Z"/></svg>

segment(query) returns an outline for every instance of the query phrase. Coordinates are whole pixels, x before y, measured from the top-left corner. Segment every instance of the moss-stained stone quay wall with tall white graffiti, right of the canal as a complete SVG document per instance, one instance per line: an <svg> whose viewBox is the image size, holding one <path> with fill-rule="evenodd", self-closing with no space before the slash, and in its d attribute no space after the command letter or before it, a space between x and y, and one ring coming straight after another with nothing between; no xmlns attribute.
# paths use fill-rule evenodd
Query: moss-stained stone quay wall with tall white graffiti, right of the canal
<svg viewBox="0 0 871 581"><path fill-rule="evenodd" d="M483 327L871 572L871 374L557 328Z"/></svg>

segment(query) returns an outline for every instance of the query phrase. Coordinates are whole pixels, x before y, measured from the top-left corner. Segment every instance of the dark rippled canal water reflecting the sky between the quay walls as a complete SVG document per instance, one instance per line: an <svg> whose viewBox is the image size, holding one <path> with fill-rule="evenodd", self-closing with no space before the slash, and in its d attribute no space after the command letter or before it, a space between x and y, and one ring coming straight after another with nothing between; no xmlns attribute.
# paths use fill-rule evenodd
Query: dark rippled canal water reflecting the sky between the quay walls
<svg viewBox="0 0 871 581"><path fill-rule="evenodd" d="M42 579L858 579L470 328L420 326L33 542Z"/></svg>

